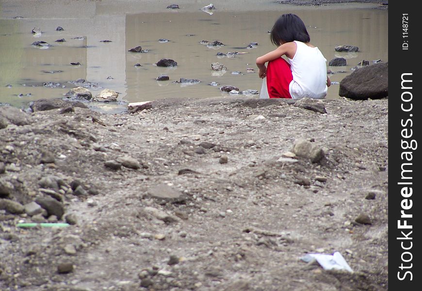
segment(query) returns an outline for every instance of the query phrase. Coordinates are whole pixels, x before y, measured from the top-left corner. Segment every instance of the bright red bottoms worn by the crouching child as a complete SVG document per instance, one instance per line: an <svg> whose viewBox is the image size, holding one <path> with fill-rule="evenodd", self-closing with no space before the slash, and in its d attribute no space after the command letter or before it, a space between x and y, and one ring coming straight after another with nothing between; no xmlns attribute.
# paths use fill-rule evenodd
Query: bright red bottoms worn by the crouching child
<svg viewBox="0 0 422 291"><path fill-rule="evenodd" d="M290 64L283 58L277 58L267 65L267 88L270 98L292 98L289 84L293 80Z"/></svg>

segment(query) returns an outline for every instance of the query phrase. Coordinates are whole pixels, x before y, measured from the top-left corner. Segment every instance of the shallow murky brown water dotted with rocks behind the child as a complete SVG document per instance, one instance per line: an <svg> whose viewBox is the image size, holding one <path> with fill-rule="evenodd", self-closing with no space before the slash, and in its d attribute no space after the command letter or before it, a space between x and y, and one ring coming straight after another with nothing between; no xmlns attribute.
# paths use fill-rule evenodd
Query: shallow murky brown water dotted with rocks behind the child
<svg viewBox="0 0 422 291"><path fill-rule="evenodd" d="M327 64L334 57L347 59L346 66L327 66L335 72L331 81L341 81L362 60L388 61L388 12L372 5L295 7L265 1L256 11L229 7L210 15L200 11L203 5L198 3L197 8L187 5L177 11L162 4L150 13L107 3L111 1L50 1L50 10L44 7L44 11L25 1L0 1L0 102L26 107L31 100L63 97L74 87L69 81L77 79L97 84L91 89L93 94L109 88L129 102L220 96L218 88L224 85L260 90L257 72L247 68L257 71L255 59L275 48L268 31L279 15L288 12L304 20L311 43L319 47ZM56 31L58 26L64 31ZM33 35L34 27L42 33ZM62 38L66 41L55 42ZM207 47L199 43L202 40L219 40L225 46ZM31 45L35 41L52 46L37 48ZM259 45L246 48L251 42ZM359 52L335 52L337 45L354 45ZM136 46L145 52L128 51ZM216 55L228 51L242 54L231 58ZM177 67L154 65L162 58L175 60ZM70 65L77 62L81 65ZM224 64L227 71L212 71L214 62ZM162 74L170 80L156 81ZM201 82L188 86L174 83L180 78ZM211 82L219 85L209 85ZM337 98L338 90L339 85L333 84L327 98Z"/></svg>

